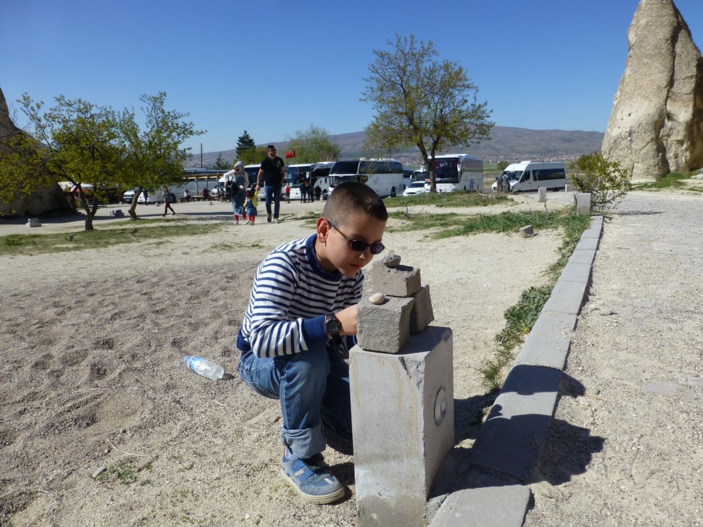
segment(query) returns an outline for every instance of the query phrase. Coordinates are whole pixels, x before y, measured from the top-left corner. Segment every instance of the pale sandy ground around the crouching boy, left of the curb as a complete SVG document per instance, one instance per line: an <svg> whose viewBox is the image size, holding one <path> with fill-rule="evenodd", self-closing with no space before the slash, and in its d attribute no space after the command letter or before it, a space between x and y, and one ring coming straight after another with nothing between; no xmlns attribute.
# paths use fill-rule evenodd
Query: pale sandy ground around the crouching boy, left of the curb
<svg viewBox="0 0 703 527"><path fill-rule="evenodd" d="M571 199L549 198L548 207ZM295 215L321 205L285 204L283 223L249 227L231 223L227 204L175 204L178 216L164 221L228 223L197 238L1 256L0 524L356 525L352 457L325 451L347 497L307 505L279 475L278 403L236 376L212 382L181 362L202 354L236 373L233 336L257 264L310 233ZM482 212L511 207L543 204L528 195ZM101 210L96 228L110 226L115 208ZM493 353L505 308L546 282L560 233L432 240L394 226L385 245L422 270L434 324L454 332L457 434L470 445L479 412L470 402L484 393L475 368ZM49 219L32 233L70 230L82 222ZM0 235L29 231L24 221L0 223Z"/></svg>

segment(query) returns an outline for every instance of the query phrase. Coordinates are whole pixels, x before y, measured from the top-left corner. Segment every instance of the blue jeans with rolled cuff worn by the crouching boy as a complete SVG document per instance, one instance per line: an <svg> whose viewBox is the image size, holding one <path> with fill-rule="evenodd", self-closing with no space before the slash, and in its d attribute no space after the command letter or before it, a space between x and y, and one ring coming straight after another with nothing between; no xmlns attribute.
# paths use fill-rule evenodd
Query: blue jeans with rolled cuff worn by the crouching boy
<svg viewBox="0 0 703 527"><path fill-rule="evenodd" d="M349 365L327 346L276 358L242 351L238 371L251 389L280 399L280 437L296 457L325 450L322 424L352 440Z"/></svg>

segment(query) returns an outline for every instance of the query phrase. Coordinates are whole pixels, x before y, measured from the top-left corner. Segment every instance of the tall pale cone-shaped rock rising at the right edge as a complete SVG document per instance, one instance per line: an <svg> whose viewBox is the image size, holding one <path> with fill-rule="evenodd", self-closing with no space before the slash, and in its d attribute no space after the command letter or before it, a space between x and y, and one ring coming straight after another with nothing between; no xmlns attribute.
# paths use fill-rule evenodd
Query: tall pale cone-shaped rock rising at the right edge
<svg viewBox="0 0 703 527"><path fill-rule="evenodd" d="M703 166L703 58L672 0L641 0L602 154L632 181Z"/></svg>

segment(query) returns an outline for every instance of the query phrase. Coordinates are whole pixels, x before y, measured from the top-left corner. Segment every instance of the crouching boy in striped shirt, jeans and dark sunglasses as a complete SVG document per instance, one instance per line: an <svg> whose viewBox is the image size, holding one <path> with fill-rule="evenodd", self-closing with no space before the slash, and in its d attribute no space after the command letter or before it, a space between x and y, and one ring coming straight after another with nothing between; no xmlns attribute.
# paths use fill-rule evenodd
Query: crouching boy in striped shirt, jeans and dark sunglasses
<svg viewBox="0 0 703 527"><path fill-rule="evenodd" d="M370 187L337 186L315 233L276 247L259 265L237 335L240 377L280 400L283 479L311 503L344 497L322 451L325 436L352 442L344 359L354 346L361 268L384 249L387 219Z"/></svg>

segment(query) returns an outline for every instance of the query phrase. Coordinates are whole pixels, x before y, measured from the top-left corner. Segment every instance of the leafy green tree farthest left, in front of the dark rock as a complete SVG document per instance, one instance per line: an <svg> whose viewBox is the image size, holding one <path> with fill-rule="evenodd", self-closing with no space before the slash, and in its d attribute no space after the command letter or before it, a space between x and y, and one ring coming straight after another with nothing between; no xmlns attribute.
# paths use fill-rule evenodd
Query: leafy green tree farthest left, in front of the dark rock
<svg viewBox="0 0 703 527"><path fill-rule="evenodd" d="M3 139L0 156L0 199L10 201L51 182L70 183L72 195L86 214L85 229L93 230L98 202L121 182L124 155L117 115L82 99L56 97L56 105L22 95L20 109L29 119L27 133Z"/></svg>

